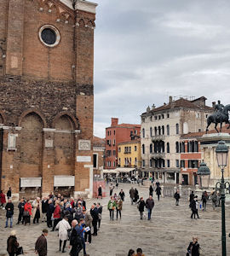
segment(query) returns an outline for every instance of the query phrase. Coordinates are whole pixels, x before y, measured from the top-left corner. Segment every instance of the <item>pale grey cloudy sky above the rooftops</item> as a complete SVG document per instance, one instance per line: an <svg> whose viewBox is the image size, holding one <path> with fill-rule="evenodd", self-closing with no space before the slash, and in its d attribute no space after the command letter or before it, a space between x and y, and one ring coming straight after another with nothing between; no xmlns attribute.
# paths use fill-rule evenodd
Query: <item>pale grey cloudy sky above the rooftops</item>
<svg viewBox="0 0 230 256"><path fill-rule="evenodd" d="M230 103L229 0L95 3L95 136L169 96Z"/></svg>

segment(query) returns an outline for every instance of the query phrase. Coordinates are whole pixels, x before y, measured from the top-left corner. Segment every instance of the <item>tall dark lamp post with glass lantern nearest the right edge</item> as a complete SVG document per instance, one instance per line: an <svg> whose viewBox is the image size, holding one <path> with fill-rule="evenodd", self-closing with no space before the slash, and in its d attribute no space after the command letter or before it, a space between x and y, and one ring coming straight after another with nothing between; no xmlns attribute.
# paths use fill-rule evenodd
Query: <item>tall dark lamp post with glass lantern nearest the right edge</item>
<svg viewBox="0 0 230 256"><path fill-rule="evenodd" d="M222 242L222 256L226 256L226 225L225 225L225 189L228 182L224 181L224 168L227 166L228 148L224 141L220 141L216 147L217 164L221 168L221 182L216 183L216 189L221 189L221 242ZM219 185L219 187L218 187Z"/></svg>

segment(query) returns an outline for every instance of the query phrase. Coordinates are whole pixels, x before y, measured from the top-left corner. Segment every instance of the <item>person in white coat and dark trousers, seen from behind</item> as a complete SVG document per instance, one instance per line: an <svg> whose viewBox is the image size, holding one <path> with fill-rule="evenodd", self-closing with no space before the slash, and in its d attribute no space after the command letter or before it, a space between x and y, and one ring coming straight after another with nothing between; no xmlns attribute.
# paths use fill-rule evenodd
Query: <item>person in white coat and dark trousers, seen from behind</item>
<svg viewBox="0 0 230 256"><path fill-rule="evenodd" d="M66 253L66 242L69 238L68 230L71 230L71 226L68 223L68 218L66 216L56 225L56 229L58 229L59 236L59 251L61 251L61 244L63 241L62 253Z"/></svg>

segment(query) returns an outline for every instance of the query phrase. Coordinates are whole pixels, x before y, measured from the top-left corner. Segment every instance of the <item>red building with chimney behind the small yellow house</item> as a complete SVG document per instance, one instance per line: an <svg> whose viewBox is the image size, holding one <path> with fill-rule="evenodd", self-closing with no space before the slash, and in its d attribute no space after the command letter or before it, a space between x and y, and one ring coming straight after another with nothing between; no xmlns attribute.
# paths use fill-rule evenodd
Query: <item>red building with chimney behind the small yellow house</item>
<svg viewBox="0 0 230 256"><path fill-rule="evenodd" d="M118 144L134 140L140 133L141 125L118 125L118 119L111 119L111 126L106 128L106 169L118 166Z"/></svg>

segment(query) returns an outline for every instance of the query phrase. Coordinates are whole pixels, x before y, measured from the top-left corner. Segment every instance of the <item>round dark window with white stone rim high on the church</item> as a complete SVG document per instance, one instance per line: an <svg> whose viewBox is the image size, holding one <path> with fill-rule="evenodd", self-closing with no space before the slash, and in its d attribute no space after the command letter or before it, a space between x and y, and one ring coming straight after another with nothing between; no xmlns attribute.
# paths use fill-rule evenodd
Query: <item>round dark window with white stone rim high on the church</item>
<svg viewBox="0 0 230 256"><path fill-rule="evenodd" d="M54 47L60 42L60 32L55 26L45 25L39 30L39 38L46 46Z"/></svg>

